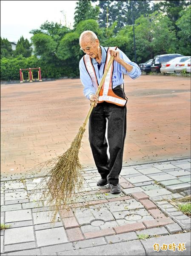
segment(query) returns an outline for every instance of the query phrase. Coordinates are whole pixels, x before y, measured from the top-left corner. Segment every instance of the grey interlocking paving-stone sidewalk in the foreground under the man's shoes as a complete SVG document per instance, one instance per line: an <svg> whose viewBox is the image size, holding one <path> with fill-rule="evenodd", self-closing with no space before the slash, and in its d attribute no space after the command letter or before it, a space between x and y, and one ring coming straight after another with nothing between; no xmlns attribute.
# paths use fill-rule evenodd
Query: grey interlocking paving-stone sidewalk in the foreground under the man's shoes
<svg viewBox="0 0 191 256"><path fill-rule="evenodd" d="M39 204L34 190L40 174L2 176L1 223L10 227L1 230L1 255L190 255L190 218L168 202L190 194L190 164L123 166L118 195L97 187L97 170L86 169L77 201L54 225L54 208Z"/></svg>

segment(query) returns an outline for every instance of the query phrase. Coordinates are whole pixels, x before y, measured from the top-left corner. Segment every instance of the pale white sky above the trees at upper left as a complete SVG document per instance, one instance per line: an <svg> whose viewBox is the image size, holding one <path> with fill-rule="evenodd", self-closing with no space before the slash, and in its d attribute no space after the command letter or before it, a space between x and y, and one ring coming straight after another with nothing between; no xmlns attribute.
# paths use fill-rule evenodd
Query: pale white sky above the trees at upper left
<svg viewBox="0 0 191 256"><path fill-rule="evenodd" d="M10 42L17 42L20 37L28 39L32 29L40 29L46 20L73 26L74 11L77 1L67 0L1 0L0 1L0 36ZM66 19L62 12L64 11Z"/></svg>

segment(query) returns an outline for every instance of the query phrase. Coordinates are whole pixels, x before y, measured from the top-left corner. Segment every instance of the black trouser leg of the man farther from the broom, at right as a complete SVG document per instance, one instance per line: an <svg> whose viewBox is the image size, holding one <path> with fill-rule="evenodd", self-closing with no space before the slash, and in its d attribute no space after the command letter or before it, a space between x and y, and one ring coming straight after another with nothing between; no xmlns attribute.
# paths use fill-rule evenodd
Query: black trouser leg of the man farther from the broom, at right
<svg viewBox="0 0 191 256"><path fill-rule="evenodd" d="M108 182L119 183L126 135L126 107L109 106L108 113L109 175Z"/></svg>

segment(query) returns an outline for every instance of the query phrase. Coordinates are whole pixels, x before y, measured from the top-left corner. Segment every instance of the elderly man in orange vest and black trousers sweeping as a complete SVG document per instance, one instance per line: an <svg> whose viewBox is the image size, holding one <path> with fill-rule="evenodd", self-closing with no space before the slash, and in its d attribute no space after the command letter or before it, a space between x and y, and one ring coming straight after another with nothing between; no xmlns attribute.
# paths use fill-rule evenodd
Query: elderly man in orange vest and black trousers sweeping
<svg viewBox="0 0 191 256"><path fill-rule="evenodd" d="M108 184L110 192L117 194L121 192L119 175L126 135L127 98L123 90L123 74L136 79L141 71L138 65L130 61L117 47L102 47L97 35L92 31L84 31L79 41L81 49L86 53L79 64L84 95L91 103L95 102L89 117L89 142L101 176L97 186ZM112 68L105 78L98 97L95 92L110 56L114 56ZM109 149L109 157L107 149Z"/></svg>

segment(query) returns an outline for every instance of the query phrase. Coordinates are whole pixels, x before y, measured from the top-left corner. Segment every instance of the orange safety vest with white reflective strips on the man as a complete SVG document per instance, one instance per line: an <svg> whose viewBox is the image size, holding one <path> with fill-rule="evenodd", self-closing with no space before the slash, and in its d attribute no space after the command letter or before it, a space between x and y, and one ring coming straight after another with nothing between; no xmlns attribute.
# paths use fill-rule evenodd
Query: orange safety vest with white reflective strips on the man
<svg viewBox="0 0 191 256"><path fill-rule="evenodd" d="M105 69L108 65L108 61L110 59L110 53L109 53L109 49L117 49L117 47L109 47L108 50L107 50L107 56L106 56L106 60L105 60L105 67L104 67L104 72L105 72ZM97 90L97 87L98 87L98 81L97 81L97 76L96 76L96 73L95 73L95 70L94 70L94 66L91 62L91 57L89 55L84 55L83 56L83 59L84 59L84 64L86 66L86 70L89 74L89 76L91 77L91 81L93 83L93 86L95 88L95 90ZM120 96L117 96L113 89L112 89L112 75L113 75L113 70L114 70L114 63L110 66L109 70L108 70L108 73L105 77L105 81L103 83L103 86L100 90L100 93L99 93L99 102L98 103L101 103L101 102L109 102L109 103L114 103L118 106L125 106L126 103L127 103L127 99L124 99Z"/></svg>

